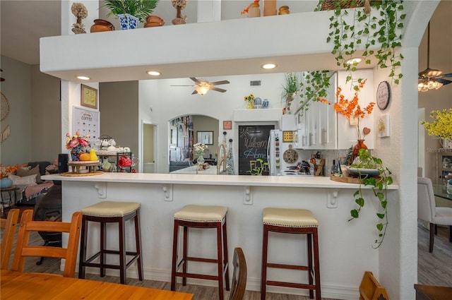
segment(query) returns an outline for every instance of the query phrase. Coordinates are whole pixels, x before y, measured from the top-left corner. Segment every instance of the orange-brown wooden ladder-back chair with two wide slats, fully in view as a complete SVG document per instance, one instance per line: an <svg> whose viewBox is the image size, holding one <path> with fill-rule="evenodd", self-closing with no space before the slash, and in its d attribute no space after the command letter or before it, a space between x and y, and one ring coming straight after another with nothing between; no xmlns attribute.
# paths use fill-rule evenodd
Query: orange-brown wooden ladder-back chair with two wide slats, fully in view
<svg viewBox="0 0 452 300"><path fill-rule="evenodd" d="M20 218L20 227L14 252L11 270L23 272L25 257L44 256L64 258L64 277L74 277L76 272L78 239L80 237L82 214L74 212L72 220L68 222L32 221L33 211L25 210ZM30 232L66 232L69 233L68 247L29 246Z"/></svg>

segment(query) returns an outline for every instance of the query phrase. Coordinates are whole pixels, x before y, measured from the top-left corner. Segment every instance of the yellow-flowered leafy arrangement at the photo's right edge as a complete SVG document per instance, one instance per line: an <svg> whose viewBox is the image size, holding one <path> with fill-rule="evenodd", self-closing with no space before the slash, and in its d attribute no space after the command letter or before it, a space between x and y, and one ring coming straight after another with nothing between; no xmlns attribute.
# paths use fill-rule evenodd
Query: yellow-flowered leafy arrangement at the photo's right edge
<svg viewBox="0 0 452 300"><path fill-rule="evenodd" d="M430 112L432 122L421 121L429 136L438 136L445 140L452 140L452 108L433 110Z"/></svg>

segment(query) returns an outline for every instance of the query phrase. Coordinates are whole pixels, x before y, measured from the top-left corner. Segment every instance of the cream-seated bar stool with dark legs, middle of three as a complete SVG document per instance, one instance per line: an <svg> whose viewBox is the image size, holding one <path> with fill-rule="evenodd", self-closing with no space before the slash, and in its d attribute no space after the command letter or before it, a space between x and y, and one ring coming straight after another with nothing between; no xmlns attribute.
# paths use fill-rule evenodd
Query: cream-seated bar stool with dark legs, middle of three
<svg viewBox="0 0 452 300"><path fill-rule="evenodd" d="M218 280L219 299L223 300L223 280L225 280L226 290L230 290L229 270L227 260L227 230L226 230L227 208L213 205L186 205L174 214L174 236L172 246L172 269L171 269L171 290L176 290L176 279L182 277L182 285L186 285L187 278L197 278L204 280ZM184 241L182 249L182 259L178 262L178 236L179 226L184 227ZM215 228L217 230L217 259L200 258L189 256L189 228ZM203 263L216 263L218 265L218 275L201 275L188 272L188 261ZM178 270L182 266L182 272Z"/></svg>

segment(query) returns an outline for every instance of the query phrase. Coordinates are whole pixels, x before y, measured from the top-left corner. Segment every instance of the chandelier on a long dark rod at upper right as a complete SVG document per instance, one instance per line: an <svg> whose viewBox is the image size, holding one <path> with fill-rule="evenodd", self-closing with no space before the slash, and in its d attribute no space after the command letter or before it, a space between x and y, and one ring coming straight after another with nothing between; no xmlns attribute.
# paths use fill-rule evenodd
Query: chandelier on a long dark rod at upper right
<svg viewBox="0 0 452 300"><path fill-rule="evenodd" d="M452 80L446 79L452 77L452 73L443 74L442 71L430 68L430 22L427 31L427 68L419 73L417 79L417 90L427 92L428 90L438 90L443 85L452 83Z"/></svg>

